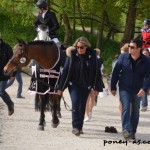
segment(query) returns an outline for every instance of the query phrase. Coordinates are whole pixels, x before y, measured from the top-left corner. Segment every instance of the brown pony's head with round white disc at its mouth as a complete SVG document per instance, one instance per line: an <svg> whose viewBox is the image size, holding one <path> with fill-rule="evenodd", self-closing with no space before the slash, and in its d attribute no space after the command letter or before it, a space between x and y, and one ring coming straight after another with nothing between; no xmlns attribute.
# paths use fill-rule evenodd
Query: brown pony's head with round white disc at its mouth
<svg viewBox="0 0 150 150"><path fill-rule="evenodd" d="M4 67L4 74L11 76L16 70L21 69L29 64L28 47L23 40L18 40L18 44L14 47L14 54Z"/></svg>

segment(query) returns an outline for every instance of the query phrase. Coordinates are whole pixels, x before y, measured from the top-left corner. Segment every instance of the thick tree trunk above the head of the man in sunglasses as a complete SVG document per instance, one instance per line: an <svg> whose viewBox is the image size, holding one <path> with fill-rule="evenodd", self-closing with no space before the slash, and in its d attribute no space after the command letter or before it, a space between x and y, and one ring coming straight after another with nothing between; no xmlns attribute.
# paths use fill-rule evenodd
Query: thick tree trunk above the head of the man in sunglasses
<svg viewBox="0 0 150 150"><path fill-rule="evenodd" d="M131 0L129 3L125 32L122 38L122 43L129 42L134 37L137 1L138 0Z"/></svg>

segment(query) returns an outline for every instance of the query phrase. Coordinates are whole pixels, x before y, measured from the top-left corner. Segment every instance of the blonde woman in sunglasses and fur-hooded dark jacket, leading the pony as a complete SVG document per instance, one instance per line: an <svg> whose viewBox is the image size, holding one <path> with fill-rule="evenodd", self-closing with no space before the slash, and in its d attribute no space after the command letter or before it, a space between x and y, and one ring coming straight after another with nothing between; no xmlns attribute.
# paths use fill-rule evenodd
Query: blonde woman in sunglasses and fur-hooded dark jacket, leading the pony
<svg viewBox="0 0 150 150"><path fill-rule="evenodd" d="M67 58L58 87L58 94L62 94L68 87L72 101L72 133L83 134L84 113L88 95L98 95L103 90L101 72L97 62L96 51L91 49L85 37L78 38L73 47L67 49Z"/></svg>

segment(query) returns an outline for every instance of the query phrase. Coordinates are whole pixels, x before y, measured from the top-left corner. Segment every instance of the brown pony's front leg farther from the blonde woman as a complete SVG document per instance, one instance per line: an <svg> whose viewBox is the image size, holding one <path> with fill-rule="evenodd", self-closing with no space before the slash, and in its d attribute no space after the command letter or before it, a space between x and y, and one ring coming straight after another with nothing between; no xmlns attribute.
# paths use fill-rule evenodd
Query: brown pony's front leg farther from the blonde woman
<svg viewBox="0 0 150 150"><path fill-rule="evenodd" d="M39 120L39 126L38 130L44 130L44 125L45 125L45 95L39 95L39 100L40 100L40 120Z"/></svg>

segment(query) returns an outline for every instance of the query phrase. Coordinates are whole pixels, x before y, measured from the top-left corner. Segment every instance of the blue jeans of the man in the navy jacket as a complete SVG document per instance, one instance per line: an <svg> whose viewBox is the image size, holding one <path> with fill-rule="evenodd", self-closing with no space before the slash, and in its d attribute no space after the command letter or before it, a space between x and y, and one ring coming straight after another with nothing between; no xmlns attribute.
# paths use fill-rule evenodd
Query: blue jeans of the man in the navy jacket
<svg viewBox="0 0 150 150"><path fill-rule="evenodd" d="M141 97L124 90L120 90L119 95L122 103L122 128L130 133L136 133Z"/></svg>

